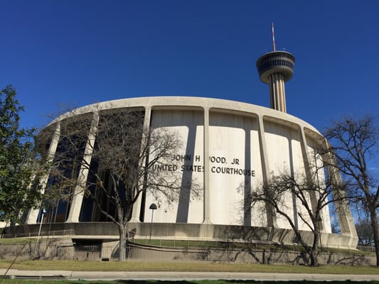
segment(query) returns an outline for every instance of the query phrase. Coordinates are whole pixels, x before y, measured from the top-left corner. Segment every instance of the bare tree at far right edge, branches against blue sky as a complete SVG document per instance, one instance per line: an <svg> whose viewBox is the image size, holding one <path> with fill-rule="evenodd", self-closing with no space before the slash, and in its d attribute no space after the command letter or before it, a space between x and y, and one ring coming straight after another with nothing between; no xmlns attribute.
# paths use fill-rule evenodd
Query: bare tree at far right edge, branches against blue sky
<svg viewBox="0 0 379 284"><path fill-rule="evenodd" d="M354 204L368 212L373 229L376 266L379 266L379 181L370 167L377 168L379 129L374 116L356 119L345 116L326 129L330 141L329 152L336 160L336 167L350 183L349 195ZM377 160L376 160L377 162ZM360 208L360 209L361 209Z"/></svg>

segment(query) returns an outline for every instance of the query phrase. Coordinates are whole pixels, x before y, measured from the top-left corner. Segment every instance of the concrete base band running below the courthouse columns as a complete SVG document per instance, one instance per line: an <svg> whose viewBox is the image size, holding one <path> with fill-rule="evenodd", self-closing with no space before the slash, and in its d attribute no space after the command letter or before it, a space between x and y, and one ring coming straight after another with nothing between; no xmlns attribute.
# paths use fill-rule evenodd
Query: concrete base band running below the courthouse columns
<svg viewBox="0 0 379 284"><path fill-rule="evenodd" d="M10 237L36 236L39 224L24 224L4 229ZM129 223L129 231L135 231L136 239L146 239L151 230L151 239L182 239L193 241L240 241L273 242L275 244L297 244L297 237L290 229L257 226L232 226L215 224L170 224L170 223ZM80 222L42 224L41 235L61 231L73 239L118 239L119 231L112 222ZM307 244L313 242L309 231L301 231ZM321 233L321 245L336 249L356 249L356 238L342 234Z"/></svg>

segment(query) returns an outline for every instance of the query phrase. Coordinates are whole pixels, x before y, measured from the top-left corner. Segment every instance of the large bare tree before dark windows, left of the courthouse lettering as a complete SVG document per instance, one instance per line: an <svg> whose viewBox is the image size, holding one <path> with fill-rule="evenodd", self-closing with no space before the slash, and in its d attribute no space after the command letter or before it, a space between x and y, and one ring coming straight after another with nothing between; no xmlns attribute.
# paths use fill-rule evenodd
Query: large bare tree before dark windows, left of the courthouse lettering
<svg viewBox="0 0 379 284"><path fill-rule="evenodd" d="M144 126L139 110L70 114L57 123L60 143L47 191L58 191L67 200L80 194L90 198L100 220L117 224L119 261L124 261L128 222L142 193L173 202L183 187L191 188L190 181L183 185L180 173L153 169L178 153L181 140L172 131Z"/></svg>

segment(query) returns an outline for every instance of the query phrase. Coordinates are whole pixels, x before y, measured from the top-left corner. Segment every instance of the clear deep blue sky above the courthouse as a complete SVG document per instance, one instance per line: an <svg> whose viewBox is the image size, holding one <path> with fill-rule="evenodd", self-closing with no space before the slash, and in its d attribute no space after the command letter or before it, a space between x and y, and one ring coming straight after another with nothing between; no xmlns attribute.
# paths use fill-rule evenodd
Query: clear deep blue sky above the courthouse
<svg viewBox="0 0 379 284"><path fill-rule="evenodd" d="M0 87L23 126L59 105L199 96L269 107L257 58L296 58L287 112L322 131L342 114L378 114L379 1L0 0Z"/></svg>

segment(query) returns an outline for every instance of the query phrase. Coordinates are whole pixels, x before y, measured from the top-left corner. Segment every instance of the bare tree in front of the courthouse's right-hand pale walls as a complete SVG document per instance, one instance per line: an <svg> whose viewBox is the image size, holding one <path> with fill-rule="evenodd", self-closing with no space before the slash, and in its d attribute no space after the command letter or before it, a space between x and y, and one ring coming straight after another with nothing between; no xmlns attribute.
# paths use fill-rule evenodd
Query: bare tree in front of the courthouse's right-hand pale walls
<svg viewBox="0 0 379 284"><path fill-rule="evenodd" d="M324 175L324 164L314 165L309 175L294 175L292 173L279 173L263 185L252 189L247 197L250 208L271 208L274 215L280 215L287 220L297 241L309 254L310 265L319 266L318 254L320 245L320 234L323 228L323 218L329 204L332 202L343 203L345 195L343 192L346 185L341 183L336 175ZM296 202L291 202L294 198ZM296 204L296 209L290 209ZM309 228L313 236L311 245L301 234L300 219Z"/></svg>

